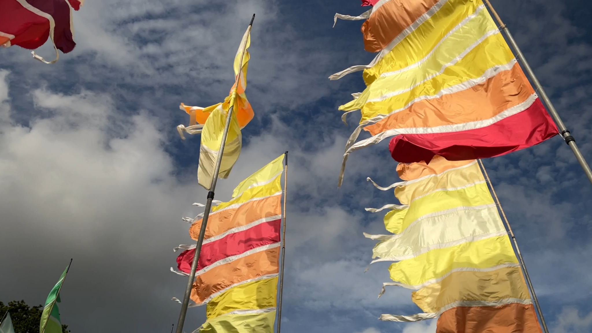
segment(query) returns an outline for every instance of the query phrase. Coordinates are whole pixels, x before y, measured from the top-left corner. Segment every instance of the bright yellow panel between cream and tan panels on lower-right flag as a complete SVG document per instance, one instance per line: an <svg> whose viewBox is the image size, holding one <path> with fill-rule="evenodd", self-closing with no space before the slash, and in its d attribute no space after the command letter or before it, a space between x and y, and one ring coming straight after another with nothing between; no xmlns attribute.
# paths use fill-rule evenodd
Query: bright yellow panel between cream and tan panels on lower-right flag
<svg viewBox="0 0 592 333"><path fill-rule="evenodd" d="M517 264L514 249L507 235L468 242L449 248L435 249L413 259L395 262L389 268L391 279L417 286L445 276L458 268L490 268Z"/></svg>

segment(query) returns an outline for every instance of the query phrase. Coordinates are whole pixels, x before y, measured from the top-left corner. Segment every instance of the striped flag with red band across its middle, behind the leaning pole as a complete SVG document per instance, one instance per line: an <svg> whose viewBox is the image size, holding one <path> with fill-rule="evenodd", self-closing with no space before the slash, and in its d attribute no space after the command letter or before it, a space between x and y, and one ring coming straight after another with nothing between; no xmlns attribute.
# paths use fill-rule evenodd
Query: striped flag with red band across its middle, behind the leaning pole
<svg viewBox="0 0 592 333"><path fill-rule="evenodd" d="M206 305L201 332L273 332L281 245L281 174L284 155L240 182L230 201L208 217L191 299ZM202 220L189 228L198 238ZM191 273L195 246L177 258Z"/></svg>

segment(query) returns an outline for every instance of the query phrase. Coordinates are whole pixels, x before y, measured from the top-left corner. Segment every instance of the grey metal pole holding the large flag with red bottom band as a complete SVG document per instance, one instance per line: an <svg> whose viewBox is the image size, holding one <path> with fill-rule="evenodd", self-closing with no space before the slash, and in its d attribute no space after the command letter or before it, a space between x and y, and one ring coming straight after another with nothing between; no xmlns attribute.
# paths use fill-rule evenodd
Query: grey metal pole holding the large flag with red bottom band
<svg viewBox="0 0 592 333"><path fill-rule="evenodd" d="M489 9L493 13L493 15L496 17L497 22L500 24L500 28L504 31L504 33L506 33L506 36L508 37L510 44L512 45L512 47L514 48L514 50L517 53L516 57L518 59L520 59L520 61L522 61L522 65L524 66L524 68L526 69L526 72L528 73L528 75L532 79L533 84L535 84L536 91L539 92L540 97L543 99L543 101L547 105L547 109L549 110L549 113L551 113L551 117L553 117L553 120L555 120L557 127L559 127L559 130L561 131L561 136L565 140L565 143L567 143L570 146L571 150L574 152L575 158L580 163L582 169L584 169L584 173L588 177L588 180L590 180L590 182L592 183L592 170L590 170L590 166L588 165L588 163L584 159L584 156L580 152L580 149L578 148L578 146L575 144L575 139L573 136L571 136L570 130L568 130L567 127L565 127L565 124L561 120L561 117L559 117L559 113L557 113L557 110L555 110L555 107L553 106L553 103L551 103L551 100L549 100L549 97L547 97L545 89L543 89L542 85L540 85L539 79L536 78L535 72L533 72L532 68L530 68L530 65L526 61L526 58L522 54L522 51L520 51L520 47L518 47L518 44L516 44L516 41L514 41L514 37L512 37L512 35L510 34L510 30L508 30L508 27L506 26L506 24L504 24L501 21L500 16L497 15L496 9L493 9L493 6L491 6L489 0L484 0L484 1L485 1L485 4L487 4Z"/></svg>

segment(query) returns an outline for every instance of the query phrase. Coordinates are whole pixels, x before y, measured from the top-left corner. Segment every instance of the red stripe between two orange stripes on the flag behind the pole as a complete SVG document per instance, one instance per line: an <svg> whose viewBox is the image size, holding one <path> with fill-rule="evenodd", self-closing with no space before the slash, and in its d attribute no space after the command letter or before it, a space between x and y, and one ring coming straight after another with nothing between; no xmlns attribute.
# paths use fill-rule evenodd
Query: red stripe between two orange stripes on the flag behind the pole
<svg viewBox="0 0 592 333"><path fill-rule="evenodd" d="M204 244L201 246L197 270L199 271L218 260L242 254L250 249L279 242L280 222L281 219L261 223L247 230L231 233L217 241ZM183 251L177 257L179 271L191 272L194 255L195 249L190 249Z"/></svg>

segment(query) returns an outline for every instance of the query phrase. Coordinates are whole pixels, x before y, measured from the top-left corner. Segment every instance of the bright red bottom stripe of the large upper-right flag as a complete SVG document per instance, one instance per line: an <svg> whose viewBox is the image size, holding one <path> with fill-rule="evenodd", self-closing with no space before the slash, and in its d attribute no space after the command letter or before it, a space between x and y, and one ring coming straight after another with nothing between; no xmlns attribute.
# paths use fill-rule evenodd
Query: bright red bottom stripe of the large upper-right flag
<svg viewBox="0 0 592 333"><path fill-rule="evenodd" d="M538 145L559 130L537 98L526 110L481 129L451 133L398 135L388 145L401 163L431 161L440 155L448 161L489 158Z"/></svg>

